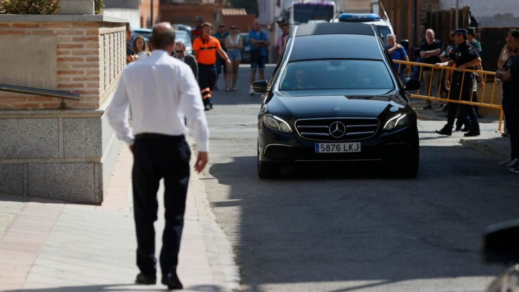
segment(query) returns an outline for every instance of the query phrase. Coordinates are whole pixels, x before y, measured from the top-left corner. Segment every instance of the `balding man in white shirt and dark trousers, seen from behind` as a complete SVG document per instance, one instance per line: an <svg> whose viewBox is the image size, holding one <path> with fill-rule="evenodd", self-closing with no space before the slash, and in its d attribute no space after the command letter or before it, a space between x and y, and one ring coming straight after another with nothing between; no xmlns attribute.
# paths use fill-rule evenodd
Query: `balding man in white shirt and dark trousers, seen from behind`
<svg viewBox="0 0 519 292"><path fill-rule="evenodd" d="M137 266L141 271L137 284L155 284L155 229L157 191L164 179L166 226L162 235L160 268L162 284L182 289L176 275L191 151L184 136L184 117L193 125L198 147L196 171L206 166L209 130L200 88L193 71L184 62L170 56L175 31L167 22L153 28L153 51L146 59L133 62L122 72L107 116L117 137L128 143L133 153L133 208L137 234ZM132 108L133 134L125 120Z"/></svg>

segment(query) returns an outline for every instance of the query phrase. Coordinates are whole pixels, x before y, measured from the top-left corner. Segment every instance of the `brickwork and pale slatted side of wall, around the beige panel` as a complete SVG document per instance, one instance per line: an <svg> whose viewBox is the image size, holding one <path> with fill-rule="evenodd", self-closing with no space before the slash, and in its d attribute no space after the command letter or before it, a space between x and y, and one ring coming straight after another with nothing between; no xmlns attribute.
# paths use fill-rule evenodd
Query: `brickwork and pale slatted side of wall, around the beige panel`
<svg viewBox="0 0 519 292"><path fill-rule="evenodd" d="M98 109L113 91L126 63L124 25L111 22L0 22L0 35L56 36L57 70L56 76L52 77L57 78L57 88L54 89L81 95L79 101L65 100L67 109ZM1 60L0 65L3 62L16 62L16 59ZM24 80L17 83L14 85L28 86ZM4 93L0 97L0 109L57 109L61 102L58 98L11 95Z"/></svg>

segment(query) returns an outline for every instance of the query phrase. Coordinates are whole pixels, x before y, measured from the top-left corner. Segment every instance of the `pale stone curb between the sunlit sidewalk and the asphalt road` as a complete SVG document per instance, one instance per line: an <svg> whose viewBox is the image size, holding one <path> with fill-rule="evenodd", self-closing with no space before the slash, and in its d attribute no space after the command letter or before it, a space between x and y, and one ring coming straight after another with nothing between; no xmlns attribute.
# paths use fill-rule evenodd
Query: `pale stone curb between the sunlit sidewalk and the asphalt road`
<svg viewBox="0 0 519 292"><path fill-rule="evenodd" d="M192 137L186 137L192 153L192 163L196 161L195 141ZM200 180L200 175L192 170L189 178L189 187L195 197L198 220L202 228L203 240L207 247L208 261L211 273L218 290L224 292L239 291L240 270L235 262L233 246L227 240L227 236L216 222L216 216L211 210L207 198L206 187Z"/></svg>

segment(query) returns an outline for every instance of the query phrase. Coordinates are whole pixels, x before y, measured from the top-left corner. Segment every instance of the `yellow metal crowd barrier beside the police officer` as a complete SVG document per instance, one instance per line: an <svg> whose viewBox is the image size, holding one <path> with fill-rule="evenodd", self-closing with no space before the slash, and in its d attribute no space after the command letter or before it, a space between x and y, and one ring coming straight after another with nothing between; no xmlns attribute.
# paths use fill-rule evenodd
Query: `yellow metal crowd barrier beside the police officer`
<svg viewBox="0 0 519 292"><path fill-rule="evenodd" d="M411 94L411 97L414 97L414 98L421 98L421 99L429 99L429 100L438 100L438 101L443 101L443 102L455 102L455 103L462 103L462 104L472 104L472 105L477 105L479 107L485 107L485 108L492 108L492 109L498 109L500 110L500 114L499 114L499 128L498 128L498 131L501 131L501 124L502 124L502 121L503 121L503 110L501 108L501 103L499 102L498 104L495 103L495 101L500 101L501 100L501 91L498 90L498 92L496 92L496 82L497 82L497 78L496 78L496 72L490 72L490 71L480 71L480 70L469 70L469 69L465 69L465 70L462 70L462 71L459 71L459 72L472 72L472 73L479 73L480 77L479 78L483 78L483 87L480 88L482 89L482 96L481 96L481 101L480 102L475 102L475 101L472 101L472 96L474 95L474 91L471 90L471 97L470 97L470 100L471 101L465 101L465 100L461 100L461 91L460 90L460 94L459 94L459 97L458 99L450 99L450 90L448 90L447 94L447 98L443 98L441 97L441 87L440 86L445 86L445 84L442 84L442 79L443 79L443 75L446 74L446 71L447 70L450 70L450 80L449 80L449 83L452 84L452 77L453 77L453 74L452 74L452 71L457 71L457 68L455 67L447 67L447 66L440 66L439 68L435 68L434 65L431 65L431 64L425 64L425 63L416 63L416 62L408 62L408 61L400 61L400 60L393 60L393 62L395 64L399 64L398 65L398 72L400 72L400 67L402 65L407 65L408 68L405 69L405 74L407 77L411 77L411 72L412 72L412 69L413 69L413 66L418 66L420 68L419 70L419 77L418 79L421 81L421 76L422 76L422 69L424 67L429 67L431 68L432 72L431 72L431 78L429 80L429 82L427 82L427 84L429 84L429 88L426 88L427 90L427 95L420 95L420 90L416 90L416 94ZM438 84L438 96L432 96L432 86L434 84L432 84L433 80L434 80L434 72L435 71L440 71L440 84ZM488 75L491 75L491 76L494 76L494 82L491 83L490 86L492 86L492 94L490 96L490 103L488 102L485 102L485 88L488 86L487 85L487 77ZM463 82L465 81L465 74L463 74L463 77L461 79L461 86L463 86ZM496 95L498 95L498 97L496 97ZM487 98L488 99L488 98Z"/></svg>

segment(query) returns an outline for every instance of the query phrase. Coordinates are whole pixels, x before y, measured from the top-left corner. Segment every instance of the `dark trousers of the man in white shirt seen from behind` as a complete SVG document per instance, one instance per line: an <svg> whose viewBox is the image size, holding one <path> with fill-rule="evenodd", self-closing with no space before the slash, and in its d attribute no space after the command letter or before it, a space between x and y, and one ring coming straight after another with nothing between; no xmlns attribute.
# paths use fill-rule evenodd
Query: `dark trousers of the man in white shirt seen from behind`
<svg viewBox="0 0 519 292"><path fill-rule="evenodd" d="M184 136L141 134L133 146L133 209L137 233L137 266L156 274L155 228L159 181L164 179L166 226L162 235L162 274L175 273L186 206L191 151Z"/></svg>

